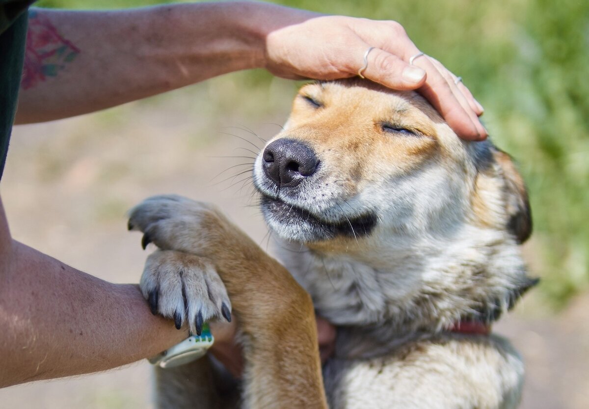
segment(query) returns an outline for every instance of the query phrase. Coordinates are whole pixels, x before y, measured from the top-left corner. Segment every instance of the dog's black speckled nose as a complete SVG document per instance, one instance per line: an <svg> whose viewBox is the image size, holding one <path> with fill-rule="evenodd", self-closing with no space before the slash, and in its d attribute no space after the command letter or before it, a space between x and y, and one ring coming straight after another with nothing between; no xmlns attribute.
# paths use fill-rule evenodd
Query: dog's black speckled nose
<svg viewBox="0 0 589 409"><path fill-rule="evenodd" d="M315 152L294 139L280 138L269 144L262 156L264 173L278 187L293 187L315 173Z"/></svg>

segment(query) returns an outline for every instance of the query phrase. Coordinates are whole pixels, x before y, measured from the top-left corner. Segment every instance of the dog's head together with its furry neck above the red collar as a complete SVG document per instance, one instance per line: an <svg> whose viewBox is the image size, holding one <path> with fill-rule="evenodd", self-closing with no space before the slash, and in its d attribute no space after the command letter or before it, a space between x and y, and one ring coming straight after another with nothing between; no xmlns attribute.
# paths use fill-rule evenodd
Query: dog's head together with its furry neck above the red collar
<svg viewBox="0 0 589 409"><path fill-rule="evenodd" d="M307 271L337 271L340 282L333 273L320 288L320 277L304 283L288 265L334 322L406 319L402 304L428 315L423 325L450 325L495 314L530 284L517 250L530 206L510 157L458 138L416 93L360 80L306 85L257 157L254 183L273 232L320 255ZM336 295L326 299L355 288L345 315Z"/></svg>

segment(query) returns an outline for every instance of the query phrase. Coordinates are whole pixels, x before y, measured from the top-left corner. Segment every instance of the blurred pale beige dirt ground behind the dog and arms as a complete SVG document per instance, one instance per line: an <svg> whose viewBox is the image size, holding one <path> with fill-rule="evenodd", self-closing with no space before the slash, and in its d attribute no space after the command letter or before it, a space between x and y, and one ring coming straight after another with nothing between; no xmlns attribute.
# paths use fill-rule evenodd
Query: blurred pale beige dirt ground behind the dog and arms
<svg viewBox="0 0 589 409"><path fill-rule="evenodd" d="M127 232L125 212L152 194L180 193L217 203L265 247L247 173L263 142L249 128L262 138L276 133L292 93L279 84L270 97L217 95L232 86L17 127L1 185L13 236L108 281L137 282L146 253L140 235ZM256 105L269 113L252 115ZM526 298L495 326L527 362L521 407L589 407L589 295L558 315L533 292ZM0 409L134 409L152 407L150 400L147 362L0 390Z"/></svg>

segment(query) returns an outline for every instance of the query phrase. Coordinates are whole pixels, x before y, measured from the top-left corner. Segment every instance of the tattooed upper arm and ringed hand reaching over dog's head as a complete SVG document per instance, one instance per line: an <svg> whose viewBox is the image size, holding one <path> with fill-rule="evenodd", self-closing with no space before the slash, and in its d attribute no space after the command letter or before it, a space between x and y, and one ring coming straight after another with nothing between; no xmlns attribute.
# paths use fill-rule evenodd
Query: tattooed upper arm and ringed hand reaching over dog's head
<svg viewBox="0 0 589 409"><path fill-rule="evenodd" d="M45 79L23 83L18 123L96 111L248 68L285 78L353 77L368 47L376 47L368 55L366 78L398 90L418 89L462 137L487 135L477 118L482 108L448 70L429 57L415 60L425 71L409 67L419 50L396 22L257 2L34 9L30 22L30 39L34 30L57 34L57 45L71 46L71 59L58 58L44 69L29 42L25 79Z"/></svg>

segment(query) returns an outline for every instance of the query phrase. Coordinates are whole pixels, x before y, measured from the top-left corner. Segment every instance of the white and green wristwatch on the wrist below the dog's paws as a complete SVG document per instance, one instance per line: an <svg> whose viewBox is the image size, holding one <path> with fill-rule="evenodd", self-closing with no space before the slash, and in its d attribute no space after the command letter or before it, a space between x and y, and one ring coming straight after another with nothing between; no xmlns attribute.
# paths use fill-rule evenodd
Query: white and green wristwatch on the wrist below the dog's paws
<svg viewBox="0 0 589 409"><path fill-rule="evenodd" d="M173 368L179 365L187 364L198 358L203 357L209 348L213 345L215 338L209 329L208 324L203 325L203 332L200 336L191 335L180 344L176 344L161 354L149 358L151 364L160 368Z"/></svg>

